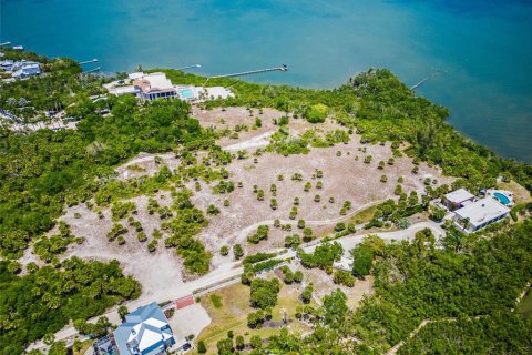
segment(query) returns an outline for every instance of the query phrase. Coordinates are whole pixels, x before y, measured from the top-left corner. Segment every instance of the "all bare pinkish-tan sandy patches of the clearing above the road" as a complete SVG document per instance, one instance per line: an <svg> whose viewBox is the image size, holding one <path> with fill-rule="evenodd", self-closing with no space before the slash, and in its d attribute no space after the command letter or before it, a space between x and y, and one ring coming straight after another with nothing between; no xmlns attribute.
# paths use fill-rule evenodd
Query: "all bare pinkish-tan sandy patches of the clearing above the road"
<svg viewBox="0 0 532 355"><path fill-rule="evenodd" d="M264 109L263 114L258 114L258 110L254 110L253 116L245 108L231 108L226 111L221 109L212 111L202 111L197 108L193 109L193 115L198 118L201 123L205 126L216 126L223 129L224 126L234 128L235 124L247 124L249 130L241 132L237 140L224 138L219 144L226 146L231 151L248 149L249 155L257 146L267 142L267 138L277 126L272 123L273 119L284 115L283 112ZM262 128L252 130L255 118L260 116ZM231 124L229 124L231 122ZM338 125L334 122L327 122L321 125L311 125L304 120L290 120L290 132L303 133L309 128L318 128L319 130L337 129ZM255 253L272 248L282 247L284 244L284 236L293 233L301 234L297 229L297 220L304 219L307 225L313 229L324 229L325 225L335 225L337 222L348 219L342 217L339 213L345 201L351 202L351 213L358 209L362 209L371 203L376 203L393 196L393 189L399 176L405 178L402 183L403 190L407 192L418 191L421 194L424 190L423 179L426 176L433 176L438 179L439 183L449 183L452 179L442 178L439 171L434 168L429 168L426 164L419 165L419 174L412 174L411 160L408 158L396 159L393 165L386 165L383 170L378 170L379 161L387 161L391 156L389 145L361 145L360 138L351 135L351 141L348 144L339 144L337 146L327 149L311 149L310 153L306 155L289 155L280 156L275 153L264 153L257 156L257 163L254 163L253 158L245 160L234 160L227 166L229 171L229 180L243 183L243 187L236 187L235 191L228 195L214 195L212 186L214 184L206 184L201 181L202 190L195 192L194 182L188 183L188 189L194 191L192 196L193 203L205 211L209 204L216 205L221 213L216 216L207 215L209 220L198 237L205 243L206 247L213 252L213 266L217 267L231 261L232 254L222 256L219 247L222 245L232 246L235 243L241 243L246 253ZM366 153L360 150L367 149ZM338 155L337 152L340 152ZM364 158L372 155L371 164L365 164ZM135 159L116 169L119 179L129 179L143 174L152 175L160 165L155 164L153 154L140 154ZM178 166L180 161L173 153L160 154L163 163L171 169ZM358 160L356 159L358 156ZM136 165L135 168L132 168ZM142 171L139 171L141 166ZM313 179L316 170L321 170L323 179ZM303 181L296 182L290 180L294 173L303 174ZM277 176L284 175L283 181L278 181ZM388 176L387 183L379 181L380 176L386 174ZM318 190L316 183L320 181L323 189ZM304 192L305 182L310 182L313 187L309 192ZM258 185L264 190L264 201L257 201L253 185ZM272 210L270 184L276 184L277 195L275 199L278 202L277 210ZM165 199L161 199L161 193L157 200L161 205L168 205L172 199L166 194ZM320 202L315 202L314 196L319 194ZM298 214L296 219L289 220L289 212L293 207L294 197L299 197ZM329 197L334 197L335 202L329 203ZM223 206L223 201L228 199L231 205ZM161 220L157 214L149 215L146 212L147 196L140 196L132 199L137 205L139 214L135 216L139 220L149 237L154 229L160 227ZM76 219L75 213L81 217ZM146 248L147 242L140 243L136 240L136 233L132 227L129 227L126 221L122 224L129 227L130 232L124 235L125 245L117 245L116 242L110 243L106 239L106 233L111 230L113 222L111 221L111 213L104 210L104 219L99 219L96 213L90 211L84 205L78 205L66 210L66 213L60 217L72 226L72 232L76 236L85 237L82 245L71 245L64 257L73 255L84 258L98 260L113 260L121 262L124 272L132 275L143 285L143 292L150 295L153 290L166 288L168 281L181 284L183 282L182 261L175 255L174 250L166 250L164 241L161 240L157 251L149 253ZM275 219L279 219L284 224L291 223L293 231L286 232L280 229L270 226L269 239L258 245L248 244L247 236L254 233L256 227L260 224L273 224ZM316 231L317 232L317 231ZM51 234L55 231L51 231ZM150 241L150 239L149 239ZM35 256L30 252L23 257L23 263L35 261Z"/></svg>

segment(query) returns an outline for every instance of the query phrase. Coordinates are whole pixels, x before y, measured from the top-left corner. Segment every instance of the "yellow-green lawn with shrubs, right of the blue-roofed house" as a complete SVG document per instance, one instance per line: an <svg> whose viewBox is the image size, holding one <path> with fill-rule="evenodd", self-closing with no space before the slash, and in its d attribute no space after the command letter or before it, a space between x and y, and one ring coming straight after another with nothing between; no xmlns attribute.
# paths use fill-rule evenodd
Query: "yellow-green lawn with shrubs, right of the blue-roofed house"
<svg viewBox="0 0 532 355"><path fill-rule="evenodd" d="M274 277L269 273L268 277ZM288 328L291 332L306 333L309 327L295 318L297 305L303 305L299 301L301 292L300 285L282 284L278 295L278 303L273 310L273 321L280 322L283 311L285 310L287 318L290 322ZM212 323L198 336L207 345L207 354L216 353L216 343L227 336L228 331L234 335L243 335L246 343L253 335L259 335L263 338L277 334L277 328L263 327L260 329L250 329L247 326L247 314L255 310L249 306L249 287L241 283L228 287L217 290L202 297L202 305L211 316Z"/></svg>

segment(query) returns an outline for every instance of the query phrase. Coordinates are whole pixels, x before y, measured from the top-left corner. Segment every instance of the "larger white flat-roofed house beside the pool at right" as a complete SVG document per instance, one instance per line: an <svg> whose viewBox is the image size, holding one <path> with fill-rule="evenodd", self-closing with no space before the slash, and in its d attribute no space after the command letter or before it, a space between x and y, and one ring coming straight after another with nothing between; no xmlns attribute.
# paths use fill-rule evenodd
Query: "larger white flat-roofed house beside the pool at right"
<svg viewBox="0 0 532 355"><path fill-rule="evenodd" d="M472 202L454 211L454 223L467 233L477 232L510 214L510 209L492 197Z"/></svg>

